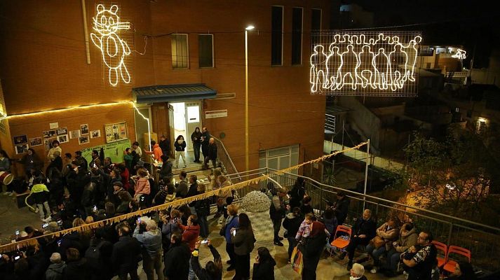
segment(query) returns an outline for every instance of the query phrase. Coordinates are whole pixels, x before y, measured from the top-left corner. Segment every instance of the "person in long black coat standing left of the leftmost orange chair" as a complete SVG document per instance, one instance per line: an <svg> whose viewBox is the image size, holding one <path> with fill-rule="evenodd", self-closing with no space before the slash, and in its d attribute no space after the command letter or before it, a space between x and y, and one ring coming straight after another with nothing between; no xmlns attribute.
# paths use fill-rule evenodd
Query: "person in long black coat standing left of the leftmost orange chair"
<svg viewBox="0 0 500 280"><path fill-rule="evenodd" d="M306 244L299 244L298 248L302 253L302 279L316 279L316 268L320 261L323 248L325 248L327 235L325 225L321 222L313 222L311 224L311 235Z"/></svg>

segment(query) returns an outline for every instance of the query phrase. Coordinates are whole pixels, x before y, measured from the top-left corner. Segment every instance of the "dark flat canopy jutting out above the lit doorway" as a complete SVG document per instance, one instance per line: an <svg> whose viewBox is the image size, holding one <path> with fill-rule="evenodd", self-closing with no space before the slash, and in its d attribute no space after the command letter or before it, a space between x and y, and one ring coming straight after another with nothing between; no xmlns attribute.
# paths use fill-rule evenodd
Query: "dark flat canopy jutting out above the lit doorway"
<svg viewBox="0 0 500 280"><path fill-rule="evenodd" d="M182 85L151 85L135 87L132 94L137 103L174 102L215 98L217 91L203 83Z"/></svg>

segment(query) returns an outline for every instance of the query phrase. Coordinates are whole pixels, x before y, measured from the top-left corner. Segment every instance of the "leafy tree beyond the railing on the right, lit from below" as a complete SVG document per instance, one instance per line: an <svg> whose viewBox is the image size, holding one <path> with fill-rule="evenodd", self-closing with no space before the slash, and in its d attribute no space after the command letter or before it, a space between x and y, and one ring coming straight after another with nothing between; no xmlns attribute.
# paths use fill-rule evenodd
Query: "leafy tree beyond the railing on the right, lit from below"
<svg viewBox="0 0 500 280"><path fill-rule="evenodd" d="M492 161L482 139L468 130L450 130L444 141L415 134L405 148L408 166L400 172L419 207L471 218L489 192Z"/></svg>

